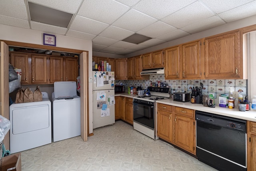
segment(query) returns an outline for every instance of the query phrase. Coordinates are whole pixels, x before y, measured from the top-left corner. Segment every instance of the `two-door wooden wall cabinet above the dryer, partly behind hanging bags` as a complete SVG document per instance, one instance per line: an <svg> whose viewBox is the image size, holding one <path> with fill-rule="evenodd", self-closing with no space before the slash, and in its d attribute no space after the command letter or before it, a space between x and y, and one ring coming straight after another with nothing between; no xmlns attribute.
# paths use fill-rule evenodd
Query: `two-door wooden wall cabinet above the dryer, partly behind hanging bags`
<svg viewBox="0 0 256 171"><path fill-rule="evenodd" d="M21 69L21 84L47 84L47 55L10 52L10 64Z"/></svg>

